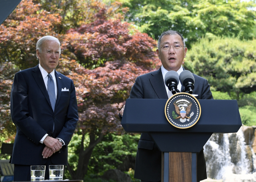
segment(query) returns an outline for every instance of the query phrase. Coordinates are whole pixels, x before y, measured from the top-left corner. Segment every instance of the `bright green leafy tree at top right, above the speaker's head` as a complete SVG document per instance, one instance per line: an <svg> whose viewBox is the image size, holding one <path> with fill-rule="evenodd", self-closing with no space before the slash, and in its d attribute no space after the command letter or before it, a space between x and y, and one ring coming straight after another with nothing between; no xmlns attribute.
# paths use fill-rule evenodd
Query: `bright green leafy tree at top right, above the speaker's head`
<svg viewBox="0 0 256 182"><path fill-rule="evenodd" d="M130 22L154 39L163 31L176 30L187 39L186 46L210 33L221 36L255 37L253 1L240 0L127 0Z"/></svg>

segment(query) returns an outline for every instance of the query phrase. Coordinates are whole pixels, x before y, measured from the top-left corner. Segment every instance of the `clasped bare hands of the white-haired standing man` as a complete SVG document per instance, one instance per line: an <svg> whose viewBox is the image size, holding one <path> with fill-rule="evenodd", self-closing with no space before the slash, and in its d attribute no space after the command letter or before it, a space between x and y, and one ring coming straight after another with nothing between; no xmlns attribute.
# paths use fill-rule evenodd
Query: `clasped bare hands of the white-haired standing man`
<svg viewBox="0 0 256 182"><path fill-rule="evenodd" d="M42 152L43 158L48 158L52 156L53 153L59 151L62 148L62 143L55 138L52 138L50 136L46 136L44 139L45 148Z"/></svg>

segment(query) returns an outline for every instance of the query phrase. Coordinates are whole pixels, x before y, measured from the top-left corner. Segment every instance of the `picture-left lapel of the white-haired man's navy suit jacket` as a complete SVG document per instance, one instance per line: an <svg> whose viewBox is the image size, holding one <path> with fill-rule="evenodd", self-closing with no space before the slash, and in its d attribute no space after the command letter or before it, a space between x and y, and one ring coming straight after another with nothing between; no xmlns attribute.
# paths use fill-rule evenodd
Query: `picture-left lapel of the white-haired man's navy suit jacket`
<svg viewBox="0 0 256 182"><path fill-rule="evenodd" d="M36 67L34 67L34 69L32 70L32 75L35 79L35 82L37 82L37 85L40 88L41 92L44 94L46 100L48 101L50 107L52 107L51 102L50 102L50 98L49 98L49 94L46 90L45 82L44 82L44 79L42 77L42 73L41 73L38 65Z"/></svg>

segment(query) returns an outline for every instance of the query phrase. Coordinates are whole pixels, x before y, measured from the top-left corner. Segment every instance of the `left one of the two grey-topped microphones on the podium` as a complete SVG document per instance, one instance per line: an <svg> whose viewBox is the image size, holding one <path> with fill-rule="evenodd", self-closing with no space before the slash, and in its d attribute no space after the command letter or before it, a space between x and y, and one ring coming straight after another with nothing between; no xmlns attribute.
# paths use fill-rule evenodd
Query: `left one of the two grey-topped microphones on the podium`
<svg viewBox="0 0 256 182"><path fill-rule="evenodd" d="M179 81L179 74L176 71L168 71L165 74L165 85L172 92L172 94L176 94Z"/></svg>

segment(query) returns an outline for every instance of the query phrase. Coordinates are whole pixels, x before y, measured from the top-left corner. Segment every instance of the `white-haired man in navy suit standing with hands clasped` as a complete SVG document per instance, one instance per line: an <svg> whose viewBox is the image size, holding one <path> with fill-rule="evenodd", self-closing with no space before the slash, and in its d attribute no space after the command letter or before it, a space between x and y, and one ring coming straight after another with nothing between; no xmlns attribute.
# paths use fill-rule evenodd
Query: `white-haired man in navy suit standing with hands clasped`
<svg viewBox="0 0 256 182"><path fill-rule="evenodd" d="M30 181L31 165L68 161L68 143L76 128L78 109L73 81L55 70L60 42L44 36L37 42L36 67L15 74L11 90L11 117L16 137L10 162L14 181Z"/></svg>

